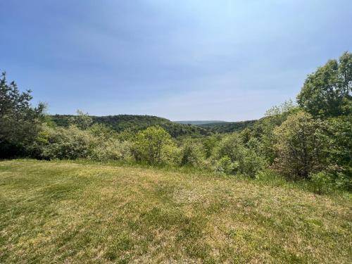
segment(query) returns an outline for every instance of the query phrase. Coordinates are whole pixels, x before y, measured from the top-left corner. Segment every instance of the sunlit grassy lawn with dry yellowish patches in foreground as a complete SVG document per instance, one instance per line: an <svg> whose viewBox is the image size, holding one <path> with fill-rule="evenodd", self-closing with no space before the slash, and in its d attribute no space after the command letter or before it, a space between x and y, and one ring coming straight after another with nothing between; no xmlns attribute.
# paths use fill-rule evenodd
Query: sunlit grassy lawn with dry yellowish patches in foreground
<svg viewBox="0 0 352 264"><path fill-rule="evenodd" d="M0 162L0 263L352 263L351 199L234 177Z"/></svg>

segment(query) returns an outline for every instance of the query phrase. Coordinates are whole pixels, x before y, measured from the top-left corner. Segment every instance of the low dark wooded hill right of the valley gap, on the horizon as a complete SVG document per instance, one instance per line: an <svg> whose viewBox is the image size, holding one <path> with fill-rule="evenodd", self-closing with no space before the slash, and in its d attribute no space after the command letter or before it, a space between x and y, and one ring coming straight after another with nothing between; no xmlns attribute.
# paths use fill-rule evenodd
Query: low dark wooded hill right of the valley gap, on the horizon
<svg viewBox="0 0 352 264"><path fill-rule="evenodd" d="M231 133L244 130L246 127L253 125L257 120L246 120L239 122L213 122L199 125L213 133Z"/></svg>

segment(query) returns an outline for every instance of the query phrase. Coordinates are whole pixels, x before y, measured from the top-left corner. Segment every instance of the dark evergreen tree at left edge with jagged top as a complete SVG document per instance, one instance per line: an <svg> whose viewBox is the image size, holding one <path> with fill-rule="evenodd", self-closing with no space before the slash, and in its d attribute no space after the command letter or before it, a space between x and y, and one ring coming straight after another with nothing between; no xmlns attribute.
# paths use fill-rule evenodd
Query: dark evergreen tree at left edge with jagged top
<svg viewBox="0 0 352 264"><path fill-rule="evenodd" d="M44 120L44 103L33 108L31 91L20 92L15 82L0 79L0 157L24 155Z"/></svg>

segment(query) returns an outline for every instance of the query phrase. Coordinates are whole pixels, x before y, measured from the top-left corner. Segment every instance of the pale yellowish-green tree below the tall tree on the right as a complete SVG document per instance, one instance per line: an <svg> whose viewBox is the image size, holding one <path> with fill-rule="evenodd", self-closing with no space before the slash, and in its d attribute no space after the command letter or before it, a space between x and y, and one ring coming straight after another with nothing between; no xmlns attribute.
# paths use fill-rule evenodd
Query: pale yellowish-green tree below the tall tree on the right
<svg viewBox="0 0 352 264"><path fill-rule="evenodd" d="M324 166L324 144L320 136L323 129L320 120L304 111L289 115L274 130L274 167L291 179L307 178Z"/></svg>

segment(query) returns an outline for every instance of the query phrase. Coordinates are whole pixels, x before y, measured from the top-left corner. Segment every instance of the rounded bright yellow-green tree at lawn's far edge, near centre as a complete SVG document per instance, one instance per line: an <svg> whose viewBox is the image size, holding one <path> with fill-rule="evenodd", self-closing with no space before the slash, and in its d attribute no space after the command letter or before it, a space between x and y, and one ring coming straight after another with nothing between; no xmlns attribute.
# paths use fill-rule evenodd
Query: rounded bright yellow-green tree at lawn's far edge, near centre
<svg viewBox="0 0 352 264"><path fill-rule="evenodd" d="M174 145L171 136L162 127L148 127L137 133L134 154L137 160L150 164L161 163L170 145Z"/></svg>

